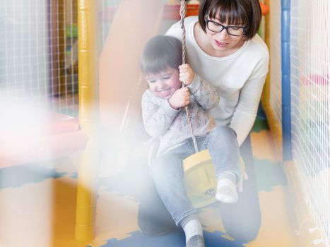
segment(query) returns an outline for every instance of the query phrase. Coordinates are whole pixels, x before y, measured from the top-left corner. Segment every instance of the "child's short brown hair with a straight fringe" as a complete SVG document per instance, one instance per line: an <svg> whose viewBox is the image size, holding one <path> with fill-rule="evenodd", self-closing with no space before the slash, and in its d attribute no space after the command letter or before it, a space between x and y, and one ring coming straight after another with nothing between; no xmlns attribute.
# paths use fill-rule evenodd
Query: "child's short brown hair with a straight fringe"
<svg viewBox="0 0 330 247"><path fill-rule="evenodd" d="M156 74L168 66L179 70L182 64L182 42L175 37L158 35L146 43L141 57L143 74Z"/></svg>

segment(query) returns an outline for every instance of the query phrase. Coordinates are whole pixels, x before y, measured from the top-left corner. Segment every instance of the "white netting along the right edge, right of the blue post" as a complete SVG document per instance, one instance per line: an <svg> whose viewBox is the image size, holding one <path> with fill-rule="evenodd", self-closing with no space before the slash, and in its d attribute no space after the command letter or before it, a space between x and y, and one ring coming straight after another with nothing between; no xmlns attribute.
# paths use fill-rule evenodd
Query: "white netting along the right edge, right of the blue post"
<svg viewBox="0 0 330 247"><path fill-rule="evenodd" d="M305 200L330 246L330 4L291 0L293 159Z"/></svg>

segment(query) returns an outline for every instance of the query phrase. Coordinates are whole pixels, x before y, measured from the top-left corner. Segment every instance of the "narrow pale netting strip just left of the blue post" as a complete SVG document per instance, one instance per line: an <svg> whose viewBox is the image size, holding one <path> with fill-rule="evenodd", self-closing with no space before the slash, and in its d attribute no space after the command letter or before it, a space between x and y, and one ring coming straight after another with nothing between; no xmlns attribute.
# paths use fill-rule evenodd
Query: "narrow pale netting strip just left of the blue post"
<svg viewBox="0 0 330 247"><path fill-rule="evenodd" d="M282 92L281 92L281 1L270 1L269 13L269 76L270 99L274 117L282 126Z"/></svg>

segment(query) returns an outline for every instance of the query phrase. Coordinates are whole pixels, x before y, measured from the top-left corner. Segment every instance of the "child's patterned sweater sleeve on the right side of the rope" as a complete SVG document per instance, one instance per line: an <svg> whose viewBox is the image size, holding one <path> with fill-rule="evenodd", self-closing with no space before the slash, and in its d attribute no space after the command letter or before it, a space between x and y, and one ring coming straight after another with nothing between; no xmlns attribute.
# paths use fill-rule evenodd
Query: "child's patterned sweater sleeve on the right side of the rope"
<svg viewBox="0 0 330 247"><path fill-rule="evenodd" d="M215 85L202 80L195 74L194 80L188 85L191 95L194 95L197 102L204 109L213 109L219 104L220 91Z"/></svg>

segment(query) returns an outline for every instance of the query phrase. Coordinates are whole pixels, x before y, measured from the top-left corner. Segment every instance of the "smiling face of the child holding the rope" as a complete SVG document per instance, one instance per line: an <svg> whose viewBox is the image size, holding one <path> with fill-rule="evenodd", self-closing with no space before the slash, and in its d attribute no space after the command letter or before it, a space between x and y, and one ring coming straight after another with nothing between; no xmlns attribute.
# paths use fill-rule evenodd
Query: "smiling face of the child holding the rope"
<svg viewBox="0 0 330 247"><path fill-rule="evenodd" d="M147 74L146 80L153 95L164 99L169 99L182 85L179 81L179 71L170 67L160 73Z"/></svg>

